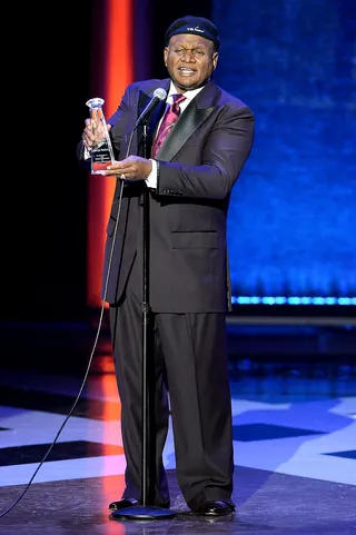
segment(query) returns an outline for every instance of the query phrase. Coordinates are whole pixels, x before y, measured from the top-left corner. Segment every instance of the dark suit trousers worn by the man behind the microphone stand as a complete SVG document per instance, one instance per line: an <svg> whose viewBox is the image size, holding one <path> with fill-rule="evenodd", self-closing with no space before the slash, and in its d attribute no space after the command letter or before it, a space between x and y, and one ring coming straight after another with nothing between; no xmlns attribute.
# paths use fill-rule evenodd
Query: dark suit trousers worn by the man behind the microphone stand
<svg viewBox="0 0 356 535"><path fill-rule="evenodd" d="M110 306L113 358L126 455L122 497L142 494L142 301L134 262L125 295ZM191 511L205 502L231 505L234 453L225 314L149 315L148 504L169 505L162 453L170 424L176 474Z"/></svg>

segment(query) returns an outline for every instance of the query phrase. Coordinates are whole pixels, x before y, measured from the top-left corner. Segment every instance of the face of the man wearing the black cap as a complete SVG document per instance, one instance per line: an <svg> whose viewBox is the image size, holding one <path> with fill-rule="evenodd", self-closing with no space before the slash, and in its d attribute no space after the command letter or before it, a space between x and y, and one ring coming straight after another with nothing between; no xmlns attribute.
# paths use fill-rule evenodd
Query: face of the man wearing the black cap
<svg viewBox="0 0 356 535"><path fill-rule="evenodd" d="M217 61L212 41L200 36L172 36L165 48L165 66L179 92L201 87Z"/></svg>

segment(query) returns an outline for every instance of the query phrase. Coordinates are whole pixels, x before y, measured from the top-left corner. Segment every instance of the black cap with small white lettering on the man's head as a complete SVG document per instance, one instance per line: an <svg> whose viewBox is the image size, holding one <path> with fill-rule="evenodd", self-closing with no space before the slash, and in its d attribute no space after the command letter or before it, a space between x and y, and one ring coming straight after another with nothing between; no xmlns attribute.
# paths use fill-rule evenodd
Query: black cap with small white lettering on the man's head
<svg viewBox="0 0 356 535"><path fill-rule="evenodd" d="M192 17L188 14L187 17L175 20L166 31L165 46L167 47L172 36L178 36L179 33L191 33L204 37L215 43L216 50L218 50L220 46L217 27L211 20L205 19L204 17Z"/></svg>

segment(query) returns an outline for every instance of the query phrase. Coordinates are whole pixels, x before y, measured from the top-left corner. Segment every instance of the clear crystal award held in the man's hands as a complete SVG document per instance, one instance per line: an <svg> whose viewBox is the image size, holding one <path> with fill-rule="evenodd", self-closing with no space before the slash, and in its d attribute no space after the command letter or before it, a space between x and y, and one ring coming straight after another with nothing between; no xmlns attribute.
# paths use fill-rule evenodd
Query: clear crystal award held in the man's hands
<svg viewBox="0 0 356 535"><path fill-rule="evenodd" d="M105 100L98 97L86 102L90 109L92 133L96 137L90 151L91 175L102 175L102 171L115 162L111 139L102 111L103 102Z"/></svg>

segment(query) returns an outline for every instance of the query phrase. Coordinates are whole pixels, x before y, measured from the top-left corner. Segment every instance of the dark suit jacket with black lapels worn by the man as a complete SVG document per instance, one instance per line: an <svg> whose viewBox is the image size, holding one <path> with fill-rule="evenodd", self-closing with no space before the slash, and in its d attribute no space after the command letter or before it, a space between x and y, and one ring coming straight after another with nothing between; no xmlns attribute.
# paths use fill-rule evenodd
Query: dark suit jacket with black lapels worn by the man
<svg viewBox="0 0 356 535"><path fill-rule="evenodd" d="M135 121L155 89L169 90L169 79L130 85L108 119L117 159L150 156L160 102L148 118L146 148L142 127L131 139ZM158 160L158 186L149 192L149 304L152 311L226 311L229 305L227 211L230 191L254 139L254 115L239 99L210 80L188 105L166 140ZM102 297L119 300L134 258L142 260L144 181L125 182L108 283L108 262L118 215L118 180L103 266ZM138 284L141 284L138 281Z"/></svg>

